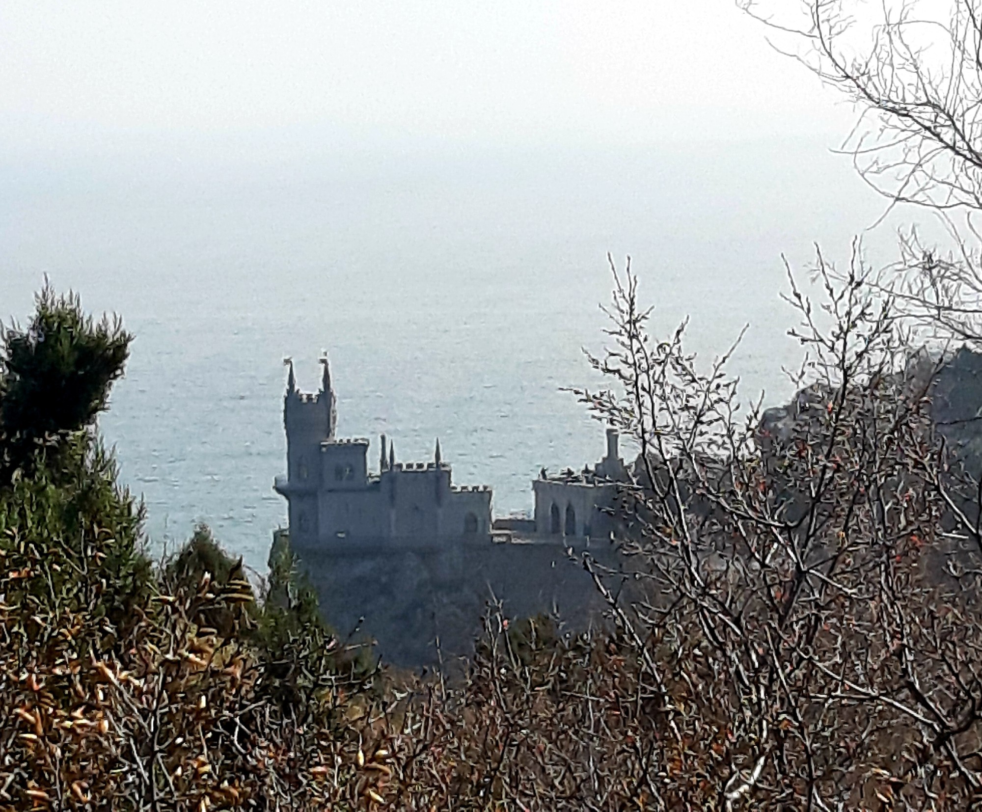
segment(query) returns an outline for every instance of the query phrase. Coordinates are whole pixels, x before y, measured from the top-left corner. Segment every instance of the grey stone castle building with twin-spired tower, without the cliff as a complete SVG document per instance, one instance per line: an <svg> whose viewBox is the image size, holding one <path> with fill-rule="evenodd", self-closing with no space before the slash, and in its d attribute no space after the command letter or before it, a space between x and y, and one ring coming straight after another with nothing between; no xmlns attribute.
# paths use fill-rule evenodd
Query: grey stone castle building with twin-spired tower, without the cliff
<svg viewBox="0 0 982 812"><path fill-rule="evenodd" d="M580 473L567 469L550 476L543 468L532 483L534 518L491 518L487 485L460 487L451 482L440 441L433 460L396 461L395 446L382 435L378 471L368 469L369 441L337 439L337 406L326 357L321 389L297 389L293 361L284 399L287 476L276 491L289 503L290 536L296 547L345 547L352 543L418 544L498 541L507 536L607 537L615 483L627 481L618 454L618 433L607 430L607 456Z"/></svg>

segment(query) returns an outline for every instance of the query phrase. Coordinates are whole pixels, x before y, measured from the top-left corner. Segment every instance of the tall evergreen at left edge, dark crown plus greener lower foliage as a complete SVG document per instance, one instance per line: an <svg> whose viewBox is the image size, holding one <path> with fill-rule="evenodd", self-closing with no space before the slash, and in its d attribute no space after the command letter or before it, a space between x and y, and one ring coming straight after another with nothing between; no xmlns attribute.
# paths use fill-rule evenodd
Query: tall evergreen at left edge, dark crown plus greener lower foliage
<svg viewBox="0 0 982 812"><path fill-rule="evenodd" d="M26 617L84 612L132 623L148 595L142 507L91 429L123 374L130 336L50 287L27 331L0 333L0 560ZM13 599L13 601L12 601Z"/></svg>

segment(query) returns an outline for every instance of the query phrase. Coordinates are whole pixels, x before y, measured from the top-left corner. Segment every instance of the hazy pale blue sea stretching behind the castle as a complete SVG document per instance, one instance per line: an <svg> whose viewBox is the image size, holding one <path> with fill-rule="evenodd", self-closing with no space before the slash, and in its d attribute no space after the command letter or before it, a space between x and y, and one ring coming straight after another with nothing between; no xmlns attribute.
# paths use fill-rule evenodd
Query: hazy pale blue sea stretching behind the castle
<svg viewBox="0 0 982 812"><path fill-rule="evenodd" d="M597 460L602 427L562 387L593 383L606 253L629 253L656 329L733 362L747 399L790 394L781 254L846 258L881 203L822 142L562 155L389 155L248 171L9 166L0 317L47 274L136 333L102 427L143 494L155 549L206 521L264 569L285 521L283 358L314 390L328 350L339 432L443 457L531 508L531 480ZM890 235L867 238L875 249ZM884 247L886 250L886 247Z"/></svg>

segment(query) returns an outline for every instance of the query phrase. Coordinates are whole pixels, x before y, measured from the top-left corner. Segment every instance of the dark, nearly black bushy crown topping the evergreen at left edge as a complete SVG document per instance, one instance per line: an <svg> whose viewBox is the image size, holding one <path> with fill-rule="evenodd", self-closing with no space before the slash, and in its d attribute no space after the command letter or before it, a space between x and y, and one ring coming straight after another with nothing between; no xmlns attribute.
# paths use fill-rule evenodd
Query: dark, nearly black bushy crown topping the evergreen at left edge
<svg viewBox="0 0 982 812"><path fill-rule="evenodd" d="M0 473L4 479L41 444L82 430L106 408L133 337L118 319L95 322L78 296L46 285L27 330L0 333Z"/></svg>

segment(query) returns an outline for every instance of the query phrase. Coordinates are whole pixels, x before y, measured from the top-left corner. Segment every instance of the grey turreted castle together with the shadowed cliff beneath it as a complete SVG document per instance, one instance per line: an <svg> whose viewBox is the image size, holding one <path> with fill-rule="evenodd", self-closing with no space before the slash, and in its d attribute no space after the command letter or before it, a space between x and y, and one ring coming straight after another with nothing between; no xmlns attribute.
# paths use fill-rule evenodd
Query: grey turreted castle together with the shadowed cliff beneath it
<svg viewBox="0 0 982 812"><path fill-rule="evenodd" d="M628 479L616 431L592 468L540 472L534 517L492 521L490 488L455 486L439 441L433 460L401 463L383 436L369 470L368 441L336 437L327 358L315 394L297 389L288 363L287 474L274 488L288 503L291 547L340 633L417 667L468 653L489 601L516 617L561 613L571 628L602 622L577 557L616 555L611 508Z"/></svg>

